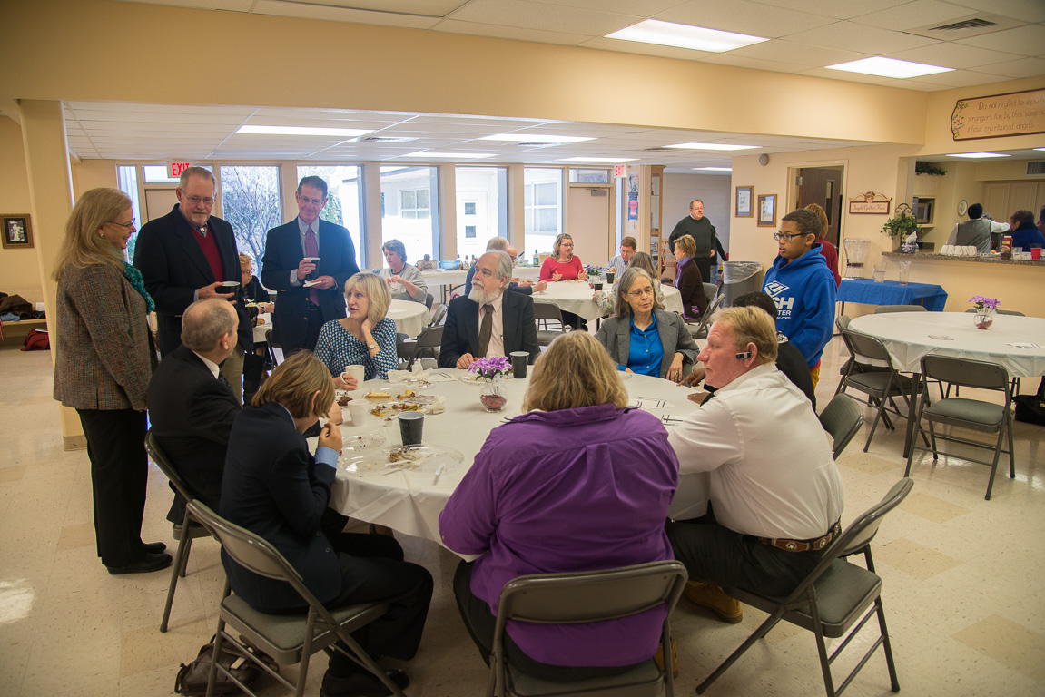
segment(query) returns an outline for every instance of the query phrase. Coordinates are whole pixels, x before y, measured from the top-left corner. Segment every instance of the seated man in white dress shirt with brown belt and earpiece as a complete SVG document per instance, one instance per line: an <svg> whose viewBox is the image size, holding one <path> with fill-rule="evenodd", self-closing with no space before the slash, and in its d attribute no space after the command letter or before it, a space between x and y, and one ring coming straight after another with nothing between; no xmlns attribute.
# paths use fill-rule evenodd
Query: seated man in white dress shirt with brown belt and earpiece
<svg viewBox="0 0 1045 697"><path fill-rule="evenodd" d="M743 609L721 586L787 596L840 532L841 477L809 399L774 365L776 330L753 307L723 310L699 359L715 398L669 435L679 473L709 472L709 514L670 521L686 595L722 620Z"/></svg>

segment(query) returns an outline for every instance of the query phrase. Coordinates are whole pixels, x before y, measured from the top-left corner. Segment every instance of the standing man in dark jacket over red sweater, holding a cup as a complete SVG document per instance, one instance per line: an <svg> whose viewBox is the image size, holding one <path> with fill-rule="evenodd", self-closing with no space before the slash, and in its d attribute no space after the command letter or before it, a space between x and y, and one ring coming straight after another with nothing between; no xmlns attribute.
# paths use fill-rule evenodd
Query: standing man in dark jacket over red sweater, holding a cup
<svg viewBox="0 0 1045 697"><path fill-rule="evenodd" d="M163 217L141 227L134 250L134 265L145 289L156 301L160 355L166 356L181 342L182 313L196 300L233 301L239 318L238 346L222 372L242 392L243 354L254 350L251 323L243 312L242 289L224 292L223 282L239 283L239 253L232 226L210 214L214 206L214 176L203 167L182 172L175 190L178 204Z"/></svg>

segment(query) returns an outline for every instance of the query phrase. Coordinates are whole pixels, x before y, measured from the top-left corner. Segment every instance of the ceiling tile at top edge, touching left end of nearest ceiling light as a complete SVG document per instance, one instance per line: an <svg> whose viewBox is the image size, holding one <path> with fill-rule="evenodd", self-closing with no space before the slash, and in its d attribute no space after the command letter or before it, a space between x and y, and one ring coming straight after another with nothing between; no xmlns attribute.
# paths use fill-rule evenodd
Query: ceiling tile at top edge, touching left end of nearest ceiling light
<svg viewBox="0 0 1045 697"><path fill-rule="evenodd" d="M601 37L635 23L633 16L526 0L473 0L451 19Z"/></svg>

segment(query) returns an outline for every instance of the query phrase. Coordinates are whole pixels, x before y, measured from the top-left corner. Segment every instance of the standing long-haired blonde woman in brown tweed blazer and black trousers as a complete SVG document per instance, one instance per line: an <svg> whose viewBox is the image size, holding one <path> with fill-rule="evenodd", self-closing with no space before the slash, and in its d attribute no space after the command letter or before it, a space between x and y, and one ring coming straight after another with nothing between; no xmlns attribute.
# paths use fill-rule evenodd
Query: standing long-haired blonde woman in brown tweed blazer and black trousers
<svg viewBox="0 0 1045 697"><path fill-rule="evenodd" d="M170 564L163 542L141 540L145 391L156 351L146 324L153 300L124 257L134 223L122 191L91 189L69 215L54 265L54 398L75 409L84 426L98 556L113 575Z"/></svg>

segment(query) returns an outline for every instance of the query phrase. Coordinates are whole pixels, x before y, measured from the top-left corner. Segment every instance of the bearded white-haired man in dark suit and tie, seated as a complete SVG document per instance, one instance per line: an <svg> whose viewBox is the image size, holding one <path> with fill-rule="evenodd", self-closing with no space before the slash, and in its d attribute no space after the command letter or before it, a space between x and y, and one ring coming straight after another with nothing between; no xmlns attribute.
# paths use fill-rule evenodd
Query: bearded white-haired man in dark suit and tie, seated
<svg viewBox="0 0 1045 697"><path fill-rule="evenodd" d="M533 299L505 293L512 280L512 260L505 252L487 252L475 262L471 293L446 308L440 368L467 368L477 358L526 351L537 359ZM482 320L480 319L482 316ZM485 326L484 326L485 325Z"/></svg>

